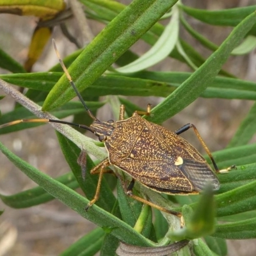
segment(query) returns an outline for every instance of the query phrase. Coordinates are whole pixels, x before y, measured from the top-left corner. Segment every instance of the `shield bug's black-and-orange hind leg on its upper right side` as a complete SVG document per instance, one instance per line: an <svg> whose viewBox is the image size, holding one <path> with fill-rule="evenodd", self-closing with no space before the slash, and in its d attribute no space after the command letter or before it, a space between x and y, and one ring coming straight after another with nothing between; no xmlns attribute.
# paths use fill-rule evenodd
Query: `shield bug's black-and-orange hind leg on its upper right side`
<svg viewBox="0 0 256 256"><path fill-rule="evenodd" d="M193 130L194 130L194 132L195 132L195 134L196 134L198 140L200 141L201 145L204 147L205 151L207 152L208 156L210 157L211 162L212 162L212 164L213 164L213 166L214 166L214 169L215 169L215 171L216 171L217 173L227 173L228 170L230 170L231 168L234 168L234 167L235 167L235 166L231 166L230 168L223 169L223 170L220 170L220 169L218 168L218 166L217 166L217 164L216 164L214 158L212 157L212 154L211 154L209 148L207 148L207 146L206 146L204 140L203 140L202 137L200 136L198 130L197 130L196 127L195 127L195 125L193 125L193 124L191 124L191 123L186 124L186 125L182 126L180 129L178 129L177 131L175 131L175 133L176 133L177 135L179 135L179 134L181 134L182 132L188 131L188 129L190 129L190 128L193 128Z"/></svg>

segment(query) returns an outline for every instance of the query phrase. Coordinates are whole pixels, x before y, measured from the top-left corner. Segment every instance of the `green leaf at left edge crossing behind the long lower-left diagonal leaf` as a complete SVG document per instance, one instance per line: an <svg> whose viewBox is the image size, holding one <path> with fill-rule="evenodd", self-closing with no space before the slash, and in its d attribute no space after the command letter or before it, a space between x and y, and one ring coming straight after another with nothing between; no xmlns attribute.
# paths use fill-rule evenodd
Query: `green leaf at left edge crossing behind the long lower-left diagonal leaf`
<svg viewBox="0 0 256 256"><path fill-rule="evenodd" d="M58 180L58 182L61 182L62 184L65 184L65 186L70 189L79 188L79 185L72 173L62 175L56 180ZM47 193L41 187L28 189L26 191L22 191L20 193L10 196L0 194L0 198L4 202L4 204L16 209L44 204L54 199L53 196L49 195L49 193Z"/></svg>

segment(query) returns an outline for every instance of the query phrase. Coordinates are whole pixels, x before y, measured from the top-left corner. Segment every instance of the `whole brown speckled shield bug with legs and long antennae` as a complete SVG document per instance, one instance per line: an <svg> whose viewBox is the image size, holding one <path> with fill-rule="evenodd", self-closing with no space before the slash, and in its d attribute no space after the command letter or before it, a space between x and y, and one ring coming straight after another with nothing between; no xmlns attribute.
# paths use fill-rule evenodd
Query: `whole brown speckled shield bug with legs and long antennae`
<svg viewBox="0 0 256 256"><path fill-rule="evenodd" d="M131 183L127 188L127 195L161 211L175 214L179 217L181 216L180 212L165 209L144 198L133 195L132 188L134 182L140 182L147 188L170 195L198 194L207 182L211 182L214 190L220 188L220 182L216 174L212 171L204 157L198 150L179 136L182 132L193 128L198 140L210 157L214 170L217 173L220 172L211 152L202 140L195 125L186 124L175 132L168 131L164 127L148 122L142 118L141 115L150 115L150 105L148 105L147 111L135 111L133 115L127 119L124 117L124 105L121 105L118 121L100 121L92 114L90 109L88 109L80 93L77 91L67 68L60 58L55 43L54 48L68 81L83 103L88 115L93 119L92 125L87 127L86 125L73 124L60 120L28 119L16 120L8 124L0 125L0 129L22 122L56 122L86 129L93 132L93 134L99 138L99 141L104 142L108 157L91 170L92 174L99 173L99 182L95 196L86 206L86 209L93 205L99 198L100 184L108 166L116 166L132 177ZM85 159L84 150L78 161L81 166L85 165L83 159Z"/></svg>

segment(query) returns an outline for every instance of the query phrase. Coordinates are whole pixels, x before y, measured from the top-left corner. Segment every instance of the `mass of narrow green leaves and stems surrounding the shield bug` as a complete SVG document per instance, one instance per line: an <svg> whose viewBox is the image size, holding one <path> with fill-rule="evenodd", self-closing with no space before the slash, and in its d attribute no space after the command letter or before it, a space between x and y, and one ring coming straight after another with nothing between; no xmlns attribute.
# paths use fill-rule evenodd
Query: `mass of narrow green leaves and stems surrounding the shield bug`
<svg viewBox="0 0 256 256"><path fill-rule="evenodd" d="M99 96L106 95L119 95L119 99L115 97L116 102L125 104L129 116L139 108L122 96L164 97L152 109L152 115L146 117L158 124L179 113L198 97L256 100L255 83L237 79L221 69L230 55L246 54L255 47L256 6L210 12L184 6L175 0L134 0L129 6L104 0L81 2L86 6L88 19L97 20L107 26L83 51L74 52L63 61L69 67L68 71L79 92L87 97L90 95L86 104L93 113L109 101L108 98L104 102L98 101ZM170 10L171 17L167 18L170 22L164 30L164 26L158 21ZM206 24L234 28L222 44L215 45L189 25L184 13ZM198 43L212 51L207 60L181 38L180 26L198 40ZM151 50L141 58L130 49L138 40L152 45ZM76 95L60 65L52 67L49 72L26 73L3 49L0 49L0 58L1 67L12 72L0 75L0 78L28 88L26 95L42 106L44 111L51 111L58 118L74 115L76 122L81 113L84 113L81 102L70 102ZM164 58L175 58L191 67L193 72L145 70ZM114 67L120 66L120 69L117 68L118 72L111 67L113 63ZM106 73L103 75L104 72ZM8 93L8 87L3 83L0 88ZM19 103L26 104L22 103L22 106L17 106L1 116L1 124L20 118L35 118L35 115L44 117L36 104L32 104L22 95L18 96L13 97ZM116 106L113 100L111 104ZM183 230L180 230L177 218L166 217L166 214L158 211L153 215L150 207L131 200L125 195L120 180L117 184L114 181L110 186L110 182L104 179L99 200L88 212L84 211L86 204L93 198L98 177L90 175L90 170L96 163L87 156L86 179L83 180L77 157L81 148L99 160L106 158L107 154L98 147L99 143L70 127L61 129L62 134L57 133L57 138L72 173L56 179L15 156L0 143L3 154L38 184L36 188L15 195L0 195L1 200L13 208L26 208L57 198L77 214L99 226L85 234L61 255L71 255L70 252L72 255L94 255L99 251L101 255L113 255L119 241L136 246L165 246L170 241L180 239L192 241L195 255L227 255L225 239L256 238L256 146L248 144L256 131L255 106L254 103L228 147L213 154L221 168L231 164L237 166L236 170L219 175L221 188L218 195L213 196L211 189L208 189L200 200L198 196L170 196L169 199L179 204L175 205L174 211L182 211L184 215L186 228ZM115 107L113 110L115 111ZM35 125L40 124L5 127L0 129L0 134L28 129ZM86 197L79 195L76 188L81 188ZM117 197L113 193L114 188L117 188ZM140 193L140 186L135 188L134 193ZM148 197L152 193L155 192L148 192ZM159 194L152 198L157 198L160 205L171 204ZM1 218L4 218L4 213ZM188 248L182 250L184 255L191 255Z"/></svg>

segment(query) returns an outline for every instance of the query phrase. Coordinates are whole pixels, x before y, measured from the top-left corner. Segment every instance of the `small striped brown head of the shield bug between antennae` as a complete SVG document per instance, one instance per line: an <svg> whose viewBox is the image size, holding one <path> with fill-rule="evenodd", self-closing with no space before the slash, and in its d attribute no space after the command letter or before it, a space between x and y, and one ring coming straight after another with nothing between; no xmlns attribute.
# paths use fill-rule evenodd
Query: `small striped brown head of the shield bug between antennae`
<svg viewBox="0 0 256 256"><path fill-rule="evenodd" d="M97 120L90 125L90 129L99 137L99 141L106 141L115 129L114 121L108 120L108 122L101 122Z"/></svg>

